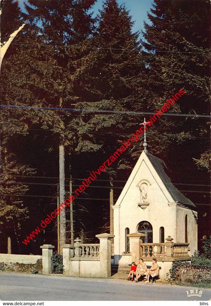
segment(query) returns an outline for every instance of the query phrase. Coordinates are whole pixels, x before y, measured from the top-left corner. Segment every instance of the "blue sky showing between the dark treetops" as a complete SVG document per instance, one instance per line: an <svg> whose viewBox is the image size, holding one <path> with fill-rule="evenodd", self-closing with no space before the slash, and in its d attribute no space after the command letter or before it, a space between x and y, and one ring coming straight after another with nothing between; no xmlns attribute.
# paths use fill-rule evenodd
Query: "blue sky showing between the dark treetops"
<svg viewBox="0 0 211 306"><path fill-rule="evenodd" d="M26 0L18 0L20 7L23 9L23 3ZM98 10L102 8L104 0L97 0L92 8L93 15L98 13ZM144 21L148 21L147 12L149 12L152 7L153 0L117 0L117 2L122 5L125 4L126 8L130 11L133 21L135 22L133 31L144 30Z"/></svg>

